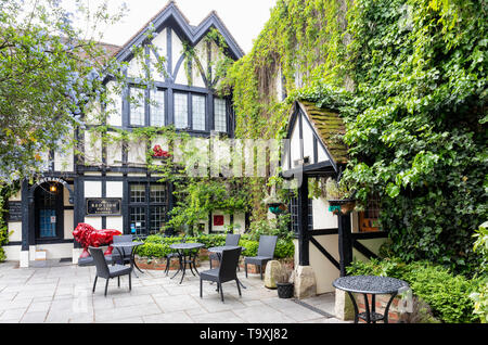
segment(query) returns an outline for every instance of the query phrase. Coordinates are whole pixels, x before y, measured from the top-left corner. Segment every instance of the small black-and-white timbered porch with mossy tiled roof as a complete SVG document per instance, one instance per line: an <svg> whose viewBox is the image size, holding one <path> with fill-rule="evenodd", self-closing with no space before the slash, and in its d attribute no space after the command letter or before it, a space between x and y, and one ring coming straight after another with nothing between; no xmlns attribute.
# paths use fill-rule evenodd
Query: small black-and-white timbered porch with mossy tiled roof
<svg viewBox="0 0 488 345"><path fill-rule="evenodd" d="M338 216L330 210L325 196L309 199L310 179L341 178L348 162L348 148L341 139L345 130L336 111L307 101L297 101L292 107L281 165L282 176L298 184L291 205L298 291L334 291L332 282L346 274L352 259L376 257L386 237L377 228L373 199L363 212Z"/></svg>

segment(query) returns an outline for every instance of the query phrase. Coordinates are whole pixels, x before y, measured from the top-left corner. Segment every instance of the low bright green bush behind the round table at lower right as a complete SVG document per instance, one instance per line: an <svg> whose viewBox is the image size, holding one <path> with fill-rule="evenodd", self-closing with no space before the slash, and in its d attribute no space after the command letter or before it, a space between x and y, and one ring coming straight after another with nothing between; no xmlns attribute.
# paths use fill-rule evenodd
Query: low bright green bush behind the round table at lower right
<svg viewBox="0 0 488 345"><path fill-rule="evenodd" d="M473 315L470 293L480 285L480 279L454 276L449 269L426 261L403 264L399 259L355 261L350 274L385 276L404 280L413 293L426 302L434 316L448 323L478 322Z"/></svg>

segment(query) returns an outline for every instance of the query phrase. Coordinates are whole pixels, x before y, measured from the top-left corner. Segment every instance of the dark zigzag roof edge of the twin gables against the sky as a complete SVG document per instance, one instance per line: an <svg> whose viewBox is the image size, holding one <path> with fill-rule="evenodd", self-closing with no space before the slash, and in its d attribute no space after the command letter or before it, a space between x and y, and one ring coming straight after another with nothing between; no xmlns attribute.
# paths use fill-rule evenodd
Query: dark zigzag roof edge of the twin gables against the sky
<svg viewBox="0 0 488 345"><path fill-rule="evenodd" d="M184 38L194 46L197 43L210 29L215 27L226 39L229 46L229 52L235 60L244 56L244 51L239 47L235 39L232 37L223 22L217 15L217 12L211 11L197 26L190 25L189 20L183 15L180 9L177 7L174 0L168 3L153 16L136 35L133 35L114 55L117 60L124 61L130 55L130 47L140 44L145 39L145 34L149 30L150 23L153 23L156 31L172 20L178 25L178 31L184 36Z"/></svg>

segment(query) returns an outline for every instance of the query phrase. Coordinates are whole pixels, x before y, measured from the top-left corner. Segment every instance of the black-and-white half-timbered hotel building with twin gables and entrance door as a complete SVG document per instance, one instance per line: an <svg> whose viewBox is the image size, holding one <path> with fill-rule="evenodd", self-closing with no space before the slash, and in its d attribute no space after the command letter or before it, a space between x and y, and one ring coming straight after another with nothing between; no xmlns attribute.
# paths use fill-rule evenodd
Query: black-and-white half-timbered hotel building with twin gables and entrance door
<svg viewBox="0 0 488 345"><path fill-rule="evenodd" d="M205 39L210 30L224 39L223 52L218 42ZM154 88L142 91L146 101L139 104L128 101L133 92L141 92L138 82L143 67L134 58L133 47L144 50L145 63L154 73ZM114 108L105 122L91 122L87 114L87 127L106 125L131 131L172 125L177 131L195 137L206 138L213 132L233 137L232 106L230 99L215 93L219 76L213 62L222 53L232 60L244 53L216 12L193 26L169 1L126 44L107 44L106 49L118 62L127 62L128 82L121 94L114 95ZM188 61L188 49L200 54L196 67ZM159 56L164 58L163 72L153 68ZM106 81L110 90L114 81ZM73 135L80 152L47 152L43 174L33 183L22 181L21 191L9 201L11 235L5 252L8 259L20 260L21 267L27 267L37 253L46 253L48 259L73 258L76 263L80 250L72 232L79 222L146 235L162 229L174 206L172 186L160 183L160 177L146 166L147 148L154 143L102 141L81 128ZM242 223L244 230L244 219L243 214L215 213L203 220L202 228L206 232L222 231L233 221Z"/></svg>

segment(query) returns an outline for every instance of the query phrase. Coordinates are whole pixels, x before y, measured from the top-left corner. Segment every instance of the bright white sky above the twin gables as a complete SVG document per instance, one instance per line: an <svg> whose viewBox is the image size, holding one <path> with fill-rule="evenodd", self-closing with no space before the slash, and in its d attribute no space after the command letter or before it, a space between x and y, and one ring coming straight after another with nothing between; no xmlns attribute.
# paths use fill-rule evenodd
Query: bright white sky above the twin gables
<svg viewBox="0 0 488 345"><path fill-rule="evenodd" d="M101 0L82 0L94 7ZM64 0L69 8L73 0ZM108 11L116 11L123 3L128 8L127 15L115 25L105 28L103 41L123 46L144 26L166 4L167 0L110 0ZM198 25L213 10L245 53L253 48L256 39L270 16L270 9L277 0L176 0L176 4L190 21Z"/></svg>

